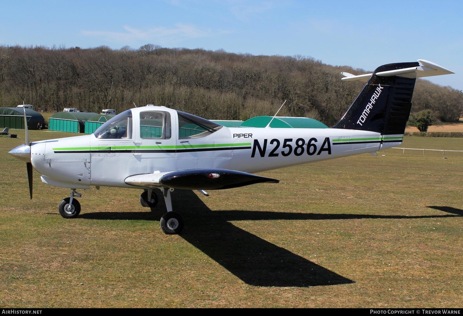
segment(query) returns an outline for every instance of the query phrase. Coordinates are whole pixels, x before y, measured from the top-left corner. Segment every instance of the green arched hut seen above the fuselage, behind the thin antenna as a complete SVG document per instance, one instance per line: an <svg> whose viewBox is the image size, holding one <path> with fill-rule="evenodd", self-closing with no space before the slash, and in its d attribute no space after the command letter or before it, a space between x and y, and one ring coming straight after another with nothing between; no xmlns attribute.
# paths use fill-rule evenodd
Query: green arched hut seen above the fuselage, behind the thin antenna
<svg viewBox="0 0 463 316"><path fill-rule="evenodd" d="M266 127L269 124L271 116L257 116L244 121L240 127ZM313 118L291 118L277 116L270 123L274 128L328 128L325 124Z"/></svg>

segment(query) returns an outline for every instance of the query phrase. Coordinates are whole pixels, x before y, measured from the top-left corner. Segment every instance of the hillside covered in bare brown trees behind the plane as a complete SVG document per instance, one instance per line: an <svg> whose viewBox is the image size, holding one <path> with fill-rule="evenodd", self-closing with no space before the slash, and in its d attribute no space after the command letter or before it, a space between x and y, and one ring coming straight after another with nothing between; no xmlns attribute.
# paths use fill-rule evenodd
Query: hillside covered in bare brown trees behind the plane
<svg viewBox="0 0 463 316"><path fill-rule="evenodd" d="M253 56L152 44L138 50L0 46L0 106L24 101L39 111L76 107L121 112L135 102L206 118L244 120L273 115L287 99L279 115L311 117L332 125L363 87L361 82L341 81L342 71L367 73L304 56ZM462 115L462 105L460 91L417 81L413 112L430 109L451 122Z"/></svg>

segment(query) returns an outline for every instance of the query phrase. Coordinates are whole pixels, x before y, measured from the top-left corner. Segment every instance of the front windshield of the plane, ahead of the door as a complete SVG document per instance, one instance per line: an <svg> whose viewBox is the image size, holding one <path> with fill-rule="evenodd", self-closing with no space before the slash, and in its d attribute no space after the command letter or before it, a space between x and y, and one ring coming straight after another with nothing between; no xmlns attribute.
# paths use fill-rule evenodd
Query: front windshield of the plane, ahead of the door
<svg viewBox="0 0 463 316"><path fill-rule="evenodd" d="M95 130L93 135L99 139L131 139L132 111L119 113Z"/></svg>

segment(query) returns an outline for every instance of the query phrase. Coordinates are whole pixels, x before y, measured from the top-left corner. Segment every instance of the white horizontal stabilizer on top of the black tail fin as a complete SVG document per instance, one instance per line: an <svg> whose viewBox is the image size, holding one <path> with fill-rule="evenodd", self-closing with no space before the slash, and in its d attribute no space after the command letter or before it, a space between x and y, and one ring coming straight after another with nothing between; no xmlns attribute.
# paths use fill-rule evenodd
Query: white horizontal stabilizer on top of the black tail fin
<svg viewBox="0 0 463 316"><path fill-rule="evenodd" d="M420 65L417 67L382 71L382 72L376 73L376 75L380 77L399 76L403 78L422 78L422 77L429 77L429 76L438 76L441 74L454 74L454 72L451 72L449 69L441 67L438 64L435 64L434 62L429 62L424 59L419 59L418 62ZM363 82L367 82L368 79L372 75L372 74L360 74L358 76L355 76L349 73L341 73L341 74L344 75L344 78L341 78L341 80L363 81Z"/></svg>

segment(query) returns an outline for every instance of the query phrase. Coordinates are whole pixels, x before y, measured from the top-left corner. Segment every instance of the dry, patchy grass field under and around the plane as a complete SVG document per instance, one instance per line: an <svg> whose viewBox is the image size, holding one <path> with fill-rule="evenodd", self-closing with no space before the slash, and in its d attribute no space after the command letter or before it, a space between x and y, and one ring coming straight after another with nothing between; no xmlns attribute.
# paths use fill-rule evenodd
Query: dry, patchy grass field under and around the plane
<svg viewBox="0 0 463 316"><path fill-rule="evenodd" d="M273 170L281 180L175 190L181 235L141 190L83 190L80 217L57 212L68 189L41 183L0 137L2 307L462 307L463 153L389 149ZM31 131L31 139L70 136ZM404 147L463 150L463 139L405 137Z"/></svg>

